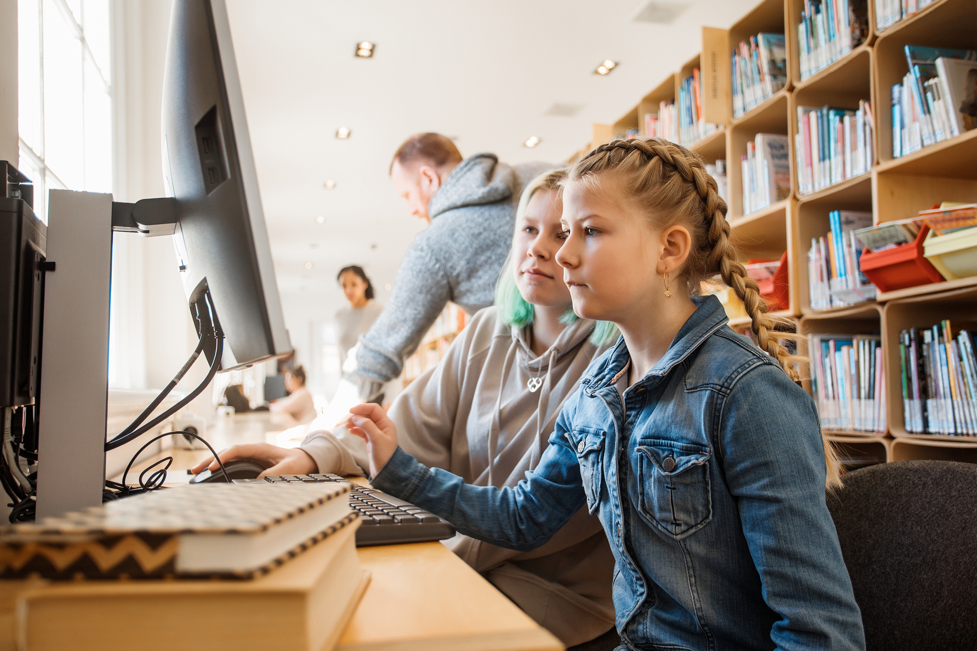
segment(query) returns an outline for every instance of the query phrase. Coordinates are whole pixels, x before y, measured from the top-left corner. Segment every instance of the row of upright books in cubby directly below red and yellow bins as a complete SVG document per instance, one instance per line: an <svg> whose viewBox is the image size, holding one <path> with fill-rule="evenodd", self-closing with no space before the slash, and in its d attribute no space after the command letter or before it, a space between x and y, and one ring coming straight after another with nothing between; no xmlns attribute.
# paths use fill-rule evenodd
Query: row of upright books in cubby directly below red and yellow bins
<svg viewBox="0 0 977 651"><path fill-rule="evenodd" d="M903 418L918 434L977 435L974 334L949 320L899 333Z"/></svg>

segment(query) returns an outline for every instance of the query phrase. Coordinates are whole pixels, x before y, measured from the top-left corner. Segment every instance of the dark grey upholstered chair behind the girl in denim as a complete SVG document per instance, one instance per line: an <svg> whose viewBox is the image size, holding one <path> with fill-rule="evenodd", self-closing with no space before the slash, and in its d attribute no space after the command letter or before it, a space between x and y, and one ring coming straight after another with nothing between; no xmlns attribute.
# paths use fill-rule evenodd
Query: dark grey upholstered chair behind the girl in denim
<svg viewBox="0 0 977 651"><path fill-rule="evenodd" d="M977 649L977 465L855 470L828 508L868 651Z"/></svg>

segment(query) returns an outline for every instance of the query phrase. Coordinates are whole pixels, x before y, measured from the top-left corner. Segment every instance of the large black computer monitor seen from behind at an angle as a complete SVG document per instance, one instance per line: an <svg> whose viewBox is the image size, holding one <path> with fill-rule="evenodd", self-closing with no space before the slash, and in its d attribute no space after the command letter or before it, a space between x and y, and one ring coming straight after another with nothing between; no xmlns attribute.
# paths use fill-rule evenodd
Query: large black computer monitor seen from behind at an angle
<svg viewBox="0 0 977 651"><path fill-rule="evenodd" d="M289 352L224 0L173 3L162 148L180 274L194 318L213 302L221 370Z"/></svg>

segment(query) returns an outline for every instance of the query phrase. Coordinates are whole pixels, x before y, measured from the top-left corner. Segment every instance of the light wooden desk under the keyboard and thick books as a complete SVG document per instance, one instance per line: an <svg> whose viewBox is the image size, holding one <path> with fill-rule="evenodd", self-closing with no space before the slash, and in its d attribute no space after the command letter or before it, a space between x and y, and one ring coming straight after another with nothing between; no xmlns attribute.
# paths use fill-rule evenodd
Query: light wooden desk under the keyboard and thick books
<svg viewBox="0 0 977 651"><path fill-rule="evenodd" d="M261 419L244 420L251 418L251 415L235 416L235 421L239 419L243 427L222 424L220 436L207 436L207 439L223 439L222 448L232 442L261 440L260 426L252 423ZM231 429L241 433L234 436ZM165 456L173 456L168 479L187 481L186 468L192 468L209 454L206 450L164 450L134 465L130 483L133 477L139 476L140 470ZM365 483L360 477L355 479ZM561 651L564 648L549 631L533 622L441 543L361 548L358 553L372 578L337 649ZM2 624L0 619L0 627Z"/></svg>

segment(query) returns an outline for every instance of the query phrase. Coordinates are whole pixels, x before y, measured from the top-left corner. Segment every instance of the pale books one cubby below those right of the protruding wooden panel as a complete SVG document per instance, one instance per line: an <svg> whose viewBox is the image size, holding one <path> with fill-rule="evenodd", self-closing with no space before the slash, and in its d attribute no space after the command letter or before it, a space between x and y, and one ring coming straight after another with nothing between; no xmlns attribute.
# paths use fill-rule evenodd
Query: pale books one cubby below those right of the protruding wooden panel
<svg viewBox="0 0 977 651"><path fill-rule="evenodd" d="M786 136L757 134L741 156L743 215L790 196L790 153Z"/></svg>

